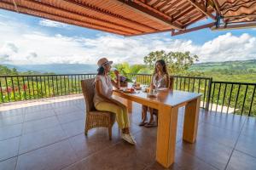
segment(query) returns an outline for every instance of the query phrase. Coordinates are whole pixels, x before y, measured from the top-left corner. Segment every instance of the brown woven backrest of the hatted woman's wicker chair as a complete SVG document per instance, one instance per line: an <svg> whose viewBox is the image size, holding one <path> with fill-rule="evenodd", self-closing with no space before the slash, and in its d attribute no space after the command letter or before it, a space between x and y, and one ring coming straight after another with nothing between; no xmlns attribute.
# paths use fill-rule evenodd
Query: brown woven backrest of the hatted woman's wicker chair
<svg viewBox="0 0 256 170"><path fill-rule="evenodd" d="M81 81L81 86L84 94L85 105L86 105L86 112L89 111L96 111L93 103L93 97L95 94L94 89L94 78L86 79Z"/></svg>

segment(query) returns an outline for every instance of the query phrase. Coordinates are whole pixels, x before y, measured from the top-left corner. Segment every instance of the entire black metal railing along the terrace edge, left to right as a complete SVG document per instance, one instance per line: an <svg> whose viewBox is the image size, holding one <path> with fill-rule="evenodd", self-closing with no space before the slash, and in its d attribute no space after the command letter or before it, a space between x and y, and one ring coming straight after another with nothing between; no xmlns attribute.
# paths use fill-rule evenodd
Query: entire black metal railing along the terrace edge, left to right
<svg viewBox="0 0 256 170"><path fill-rule="evenodd" d="M34 75L0 77L0 103L80 94L80 80L96 74ZM129 74L137 82L148 84L151 75ZM201 108L207 111L256 116L256 83L213 82L210 77L173 77L173 88L201 93Z"/></svg>

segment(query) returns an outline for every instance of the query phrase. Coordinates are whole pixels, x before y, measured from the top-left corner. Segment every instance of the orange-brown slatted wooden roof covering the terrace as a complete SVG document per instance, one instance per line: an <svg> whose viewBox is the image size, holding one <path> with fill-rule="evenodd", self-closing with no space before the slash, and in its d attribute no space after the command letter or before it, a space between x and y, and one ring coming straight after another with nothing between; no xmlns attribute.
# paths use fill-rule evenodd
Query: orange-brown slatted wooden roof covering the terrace
<svg viewBox="0 0 256 170"><path fill-rule="evenodd" d="M123 36L177 35L207 27L187 29L205 18L216 26L256 22L256 0L0 0L0 8Z"/></svg>

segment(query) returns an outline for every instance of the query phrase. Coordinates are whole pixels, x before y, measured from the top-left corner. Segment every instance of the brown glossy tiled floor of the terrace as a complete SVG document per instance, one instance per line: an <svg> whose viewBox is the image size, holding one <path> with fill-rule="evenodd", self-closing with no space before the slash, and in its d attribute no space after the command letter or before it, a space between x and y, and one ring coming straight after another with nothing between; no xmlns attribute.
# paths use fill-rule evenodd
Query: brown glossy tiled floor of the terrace
<svg viewBox="0 0 256 170"><path fill-rule="evenodd" d="M156 161L157 127L137 126L140 105L133 104L131 132L137 145L108 130L95 128L84 136L84 99L0 112L0 170L37 169L164 169ZM170 169L256 169L256 119L201 110L195 144L182 140L179 111L175 163Z"/></svg>

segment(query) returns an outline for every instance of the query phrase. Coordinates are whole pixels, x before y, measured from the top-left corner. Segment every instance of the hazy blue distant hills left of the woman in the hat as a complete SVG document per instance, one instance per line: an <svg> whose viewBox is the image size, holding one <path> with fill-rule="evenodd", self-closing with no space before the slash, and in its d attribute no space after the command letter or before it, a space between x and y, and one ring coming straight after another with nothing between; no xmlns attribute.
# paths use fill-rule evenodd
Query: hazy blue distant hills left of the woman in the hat
<svg viewBox="0 0 256 170"><path fill-rule="evenodd" d="M96 65L79 64L52 64L52 65L5 65L10 69L16 68L17 71L37 71L41 73L54 72L55 74L84 74L95 73Z"/></svg>

